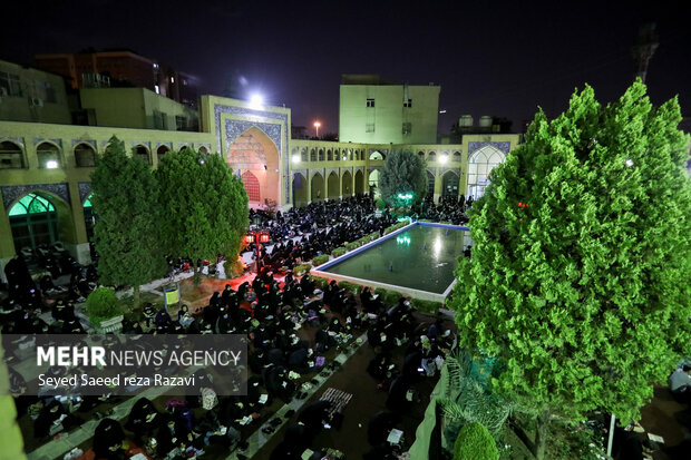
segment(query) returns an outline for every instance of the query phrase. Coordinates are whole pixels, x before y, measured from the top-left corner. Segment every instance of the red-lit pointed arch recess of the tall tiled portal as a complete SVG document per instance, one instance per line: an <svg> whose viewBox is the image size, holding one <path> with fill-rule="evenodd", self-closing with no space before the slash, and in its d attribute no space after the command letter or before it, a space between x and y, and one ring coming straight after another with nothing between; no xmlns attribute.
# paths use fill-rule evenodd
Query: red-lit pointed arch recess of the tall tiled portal
<svg viewBox="0 0 691 460"><path fill-rule="evenodd" d="M266 200L281 204L279 149L264 131L253 126L240 135L228 148L227 163L240 172L250 206L263 205Z"/></svg>

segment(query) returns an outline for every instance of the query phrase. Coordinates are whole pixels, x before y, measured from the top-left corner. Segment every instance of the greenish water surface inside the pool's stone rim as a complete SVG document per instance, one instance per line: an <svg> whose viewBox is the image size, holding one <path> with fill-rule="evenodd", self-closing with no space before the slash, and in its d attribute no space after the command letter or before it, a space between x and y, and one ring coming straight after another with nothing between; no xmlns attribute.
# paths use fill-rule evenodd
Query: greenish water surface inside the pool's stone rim
<svg viewBox="0 0 691 460"><path fill-rule="evenodd" d="M470 244L467 233L416 225L324 272L441 294L454 281L458 256Z"/></svg>

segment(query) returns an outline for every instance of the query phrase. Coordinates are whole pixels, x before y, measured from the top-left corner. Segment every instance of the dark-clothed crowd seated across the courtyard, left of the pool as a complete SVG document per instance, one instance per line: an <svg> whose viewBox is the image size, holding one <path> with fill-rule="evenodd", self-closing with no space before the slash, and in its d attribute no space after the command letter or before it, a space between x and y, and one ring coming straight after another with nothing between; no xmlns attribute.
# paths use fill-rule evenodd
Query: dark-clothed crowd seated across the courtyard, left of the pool
<svg viewBox="0 0 691 460"><path fill-rule="evenodd" d="M210 384L206 393L178 400L165 408L140 399L130 410L127 421L120 422L101 414L104 419L94 434L96 459L123 458L120 447L128 439L160 458L188 458L211 444L226 450L242 449L246 444L241 435L243 427L259 425L257 419L261 420L263 409L274 400L288 403L295 398L304 399L306 394L299 385L301 376L328 366L324 354L352 341L356 332L367 331L370 344L376 348L381 361L370 364L370 373L377 375L379 383L373 391L389 392L387 405L398 414L409 408L413 401L415 382L421 375L431 374L429 369L444 353L439 346L429 346L429 342L436 339L425 340L426 334L431 334L417 327L405 300L401 298L396 305L386 305L367 288L356 296L334 282L324 288L323 295L314 296L315 285L310 276L298 278L288 272L280 285L272 273L309 261L320 253L329 253L348 241L383 232L393 223L392 218L386 213L382 217L374 217L368 197L313 204L273 216L264 212L259 212L259 215L264 225L272 228L275 243L272 251L261 254L263 270L260 276L239 285L236 290L228 285L222 292L214 293L203 311L193 312L183 305L178 312L168 312L149 305L144 309L142 317L125 321L123 330L124 333L145 334L247 334L251 341L247 394L216 397L213 384ZM303 238L295 242L291 238L293 235ZM191 264L191 261L187 263ZM75 305L96 287L95 267L75 265L68 292L50 304L46 303L47 293L55 286L48 280L37 285L21 256L8 263L6 275L10 283L8 296L0 305L3 334L87 332L88 324L75 313ZM313 332L309 340L299 333L304 325ZM391 348L397 345L408 346L406 354L411 355L402 365L393 365L388 356ZM9 359L11 361L12 356ZM12 388L20 389L18 392L21 393L21 389L26 389L22 376L10 372L10 378ZM48 442L49 437L89 420L93 417L90 411L104 401L108 403L108 398L22 395L17 398L17 405L19 417L31 417L35 438ZM296 452L295 446L309 447L323 425L320 413L325 409L311 407L308 411L305 408L305 413L299 414L298 423L289 429L295 435L286 437L274 458L301 458L304 449L298 457L292 457L292 452ZM377 422L376 425L386 423ZM379 438L381 433L372 439ZM382 447L372 444L372 448ZM379 452L377 449L374 451Z"/></svg>

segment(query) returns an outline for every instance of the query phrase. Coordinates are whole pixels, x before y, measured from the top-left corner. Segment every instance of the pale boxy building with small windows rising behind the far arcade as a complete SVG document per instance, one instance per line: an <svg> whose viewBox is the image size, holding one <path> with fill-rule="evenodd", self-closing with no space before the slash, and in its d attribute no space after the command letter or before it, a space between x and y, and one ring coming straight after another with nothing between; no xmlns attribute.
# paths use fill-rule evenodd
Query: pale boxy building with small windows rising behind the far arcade
<svg viewBox="0 0 691 460"><path fill-rule="evenodd" d="M369 144L437 141L439 86L341 85L339 140ZM373 107L368 107L373 99ZM370 102L371 104L371 102ZM406 127L403 124L409 124Z"/></svg>

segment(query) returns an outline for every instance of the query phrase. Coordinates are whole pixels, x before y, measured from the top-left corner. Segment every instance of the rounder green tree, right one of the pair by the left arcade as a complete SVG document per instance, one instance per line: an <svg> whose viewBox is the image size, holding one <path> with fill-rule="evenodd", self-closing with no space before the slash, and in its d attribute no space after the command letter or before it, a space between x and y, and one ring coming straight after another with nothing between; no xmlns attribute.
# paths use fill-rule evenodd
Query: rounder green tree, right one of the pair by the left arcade
<svg viewBox="0 0 691 460"><path fill-rule="evenodd" d="M247 194L217 154L192 149L166 155L156 177L160 184L162 232L168 252L197 260L224 254L237 257L249 225ZM195 270L195 285L201 282Z"/></svg>

